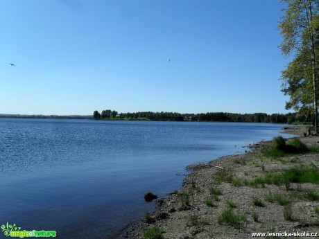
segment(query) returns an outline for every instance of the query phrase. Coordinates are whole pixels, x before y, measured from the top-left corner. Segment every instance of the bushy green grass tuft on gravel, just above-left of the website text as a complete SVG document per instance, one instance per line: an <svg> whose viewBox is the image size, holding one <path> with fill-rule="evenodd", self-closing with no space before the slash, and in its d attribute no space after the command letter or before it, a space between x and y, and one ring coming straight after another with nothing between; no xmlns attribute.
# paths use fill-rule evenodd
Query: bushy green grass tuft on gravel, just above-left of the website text
<svg viewBox="0 0 319 239"><path fill-rule="evenodd" d="M247 216L236 214L232 209L223 209L221 215L218 216L218 224L229 224L236 228L243 227L247 224Z"/></svg>

